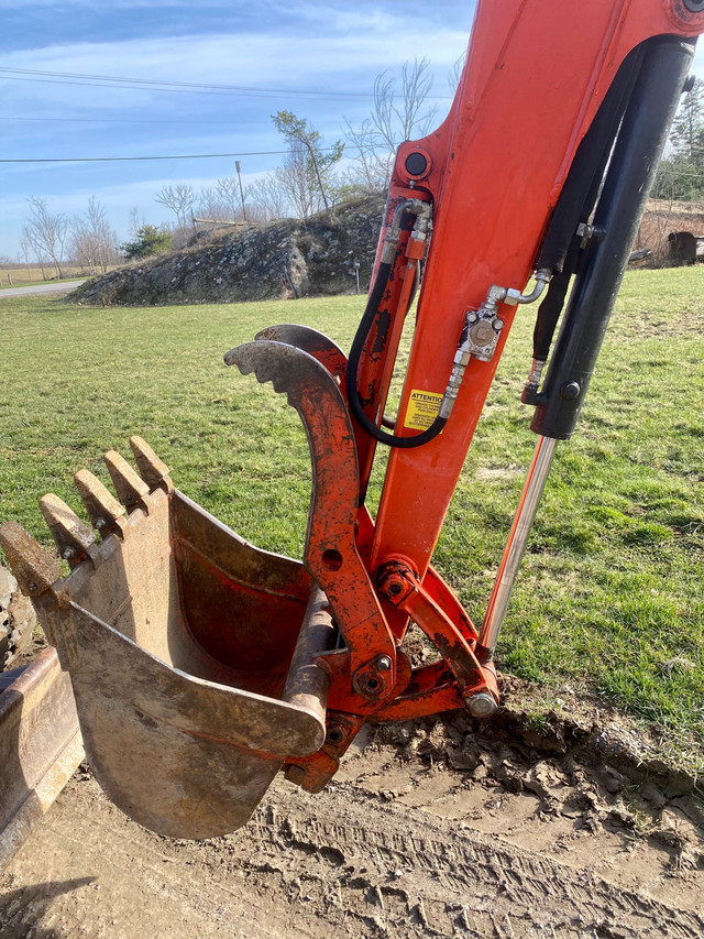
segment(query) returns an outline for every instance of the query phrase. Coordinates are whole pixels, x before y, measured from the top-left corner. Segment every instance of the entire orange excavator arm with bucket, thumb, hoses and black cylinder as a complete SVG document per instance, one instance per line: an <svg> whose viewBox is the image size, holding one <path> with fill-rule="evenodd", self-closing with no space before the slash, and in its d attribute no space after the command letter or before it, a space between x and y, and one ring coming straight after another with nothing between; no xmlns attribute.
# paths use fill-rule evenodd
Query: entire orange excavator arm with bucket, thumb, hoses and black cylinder
<svg viewBox="0 0 704 939"><path fill-rule="evenodd" d="M190 502L140 438L139 474L106 457L118 500L76 474L99 539L61 500L42 500L66 578L18 525L0 528L70 674L98 779L138 821L221 834L279 771L319 790L367 721L496 710L492 655L522 548L703 31L703 0L480 0L447 120L396 156L349 359L293 325L226 356L285 393L304 424L312 494L300 561L258 550ZM538 299L524 393L538 446L475 626L431 558L516 308ZM380 446L391 455L373 518ZM411 621L437 662L411 667Z"/></svg>

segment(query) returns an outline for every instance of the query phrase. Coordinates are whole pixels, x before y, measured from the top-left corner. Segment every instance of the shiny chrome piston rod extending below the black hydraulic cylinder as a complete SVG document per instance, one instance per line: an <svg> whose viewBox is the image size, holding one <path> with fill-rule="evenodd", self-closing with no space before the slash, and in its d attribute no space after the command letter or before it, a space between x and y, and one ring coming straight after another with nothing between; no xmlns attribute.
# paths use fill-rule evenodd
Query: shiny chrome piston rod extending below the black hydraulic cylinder
<svg viewBox="0 0 704 939"><path fill-rule="evenodd" d="M536 517L540 496L542 495L542 490L550 472L550 465L552 463L557 443L557 439L553 437L538 438L538 445L536 446L528 477L526 478L526 484L524 485L520 502L518 503L518 511L514 518L506 549L504 550L504 557L496 575L488 607L486 608L486 615L480 629L479 643L485 649L488 649L488 658L492 658L494 655L496 641L504 624L508 601L510 600L514 583L518 576L518 568L520 567L528 535Z"/></svg>

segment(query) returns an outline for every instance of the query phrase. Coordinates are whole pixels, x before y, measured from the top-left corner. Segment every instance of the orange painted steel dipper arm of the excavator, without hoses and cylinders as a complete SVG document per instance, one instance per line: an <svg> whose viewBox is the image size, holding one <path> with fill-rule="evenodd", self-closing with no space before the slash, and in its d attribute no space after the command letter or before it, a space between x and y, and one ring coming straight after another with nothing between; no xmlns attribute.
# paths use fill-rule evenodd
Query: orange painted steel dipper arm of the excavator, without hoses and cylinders
<svg viewBox="0 0 704 939"><path fill-rule="evenodd" d="M704 14L681 0L591 0L583 15L563 0L525 0L509 12L480 0L452 110L435 133L402 145L391 187L392 201L410 182L435 201L397 434L414 433L404 428L414 389L443 392L468 308L491 284L526 285L576 148L626 55L650 36L702 31ZM417 151L429 167L411 179L405 162ZM372 569L404 556L422 578L515 313L499 305L496 353L471 360L442 435L392 451Z"/></svg>

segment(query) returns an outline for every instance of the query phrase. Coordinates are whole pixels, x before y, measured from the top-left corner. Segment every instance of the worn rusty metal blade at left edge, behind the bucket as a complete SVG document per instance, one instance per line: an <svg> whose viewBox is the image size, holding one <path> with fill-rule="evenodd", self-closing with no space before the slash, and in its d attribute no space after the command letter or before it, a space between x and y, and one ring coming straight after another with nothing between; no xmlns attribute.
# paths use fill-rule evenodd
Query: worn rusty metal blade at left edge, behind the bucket
<svg viewBox="0 0 704 939"><path fill-rule="evenodd" d="M84 758L55 648L0 676L0 874Z"/></svg>

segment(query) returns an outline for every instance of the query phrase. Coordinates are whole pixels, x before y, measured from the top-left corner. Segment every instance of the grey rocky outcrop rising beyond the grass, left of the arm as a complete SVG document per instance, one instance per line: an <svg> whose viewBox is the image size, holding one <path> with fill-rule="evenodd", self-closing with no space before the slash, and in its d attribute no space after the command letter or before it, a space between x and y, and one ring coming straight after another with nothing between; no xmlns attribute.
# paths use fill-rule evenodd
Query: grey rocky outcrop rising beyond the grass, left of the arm
<svg viewBox="0 0 704 939"><path fill-rule="evenodd" d="M383 212L383 196L369 196L306 220L213 233L90 281L66 302L156 306L349 294L355 264L366 292Z"/></svg>

